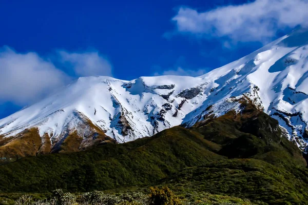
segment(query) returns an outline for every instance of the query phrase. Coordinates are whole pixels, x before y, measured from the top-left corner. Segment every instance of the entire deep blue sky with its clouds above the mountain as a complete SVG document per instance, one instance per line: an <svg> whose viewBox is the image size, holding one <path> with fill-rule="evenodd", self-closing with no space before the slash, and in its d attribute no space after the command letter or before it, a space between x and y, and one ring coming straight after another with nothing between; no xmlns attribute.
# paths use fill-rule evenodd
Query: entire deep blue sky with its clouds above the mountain
<svg viewBox="0 0 308 205"><path fill-rule="evenodd" d="M80 76L198 76L306 26L306 0L0 1L0 118Z"/></svg>

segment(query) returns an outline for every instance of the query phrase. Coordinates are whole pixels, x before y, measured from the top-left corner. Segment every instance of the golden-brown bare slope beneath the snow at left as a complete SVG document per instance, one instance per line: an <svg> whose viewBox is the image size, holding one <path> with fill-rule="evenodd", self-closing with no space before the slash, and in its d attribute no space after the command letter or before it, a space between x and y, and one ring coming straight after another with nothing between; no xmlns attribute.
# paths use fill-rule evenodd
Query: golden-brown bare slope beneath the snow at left
<svg viewBox="0 0 308 205"><path fill-rule="evenodd" d="M53 141L47 133L41 138L37 128L26 129L14 136L5 137L0 135L0 159L1 163L8 163L27 156L36 156L49 153L71 153L91 149L100 144L117 143L114 139L107 136L103 130L95 126L88 118L81 118L80 127L88 129L88 135L79 136L74 129L70 130L63 140ZM53 145L53 146L52 146Z"/></svg>

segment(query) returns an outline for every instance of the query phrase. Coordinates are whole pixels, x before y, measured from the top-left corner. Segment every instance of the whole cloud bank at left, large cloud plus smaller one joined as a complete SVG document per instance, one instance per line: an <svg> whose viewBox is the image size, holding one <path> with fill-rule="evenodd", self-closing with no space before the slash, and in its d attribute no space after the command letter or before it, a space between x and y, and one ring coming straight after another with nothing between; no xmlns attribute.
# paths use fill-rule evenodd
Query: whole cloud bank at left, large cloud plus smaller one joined
<svg viewBox="0 0 308 205"><path fill-rule="evenodd" d="M0 48L0 102L10 101L25 106L40 100L75 77L89 75L111 75L111 65L98 52L59 52L55 67L48 58L35 52L18 53L7 46ZM61 64L62 62L62 64ZM63 72L69 65L75 76Z"/></svg>

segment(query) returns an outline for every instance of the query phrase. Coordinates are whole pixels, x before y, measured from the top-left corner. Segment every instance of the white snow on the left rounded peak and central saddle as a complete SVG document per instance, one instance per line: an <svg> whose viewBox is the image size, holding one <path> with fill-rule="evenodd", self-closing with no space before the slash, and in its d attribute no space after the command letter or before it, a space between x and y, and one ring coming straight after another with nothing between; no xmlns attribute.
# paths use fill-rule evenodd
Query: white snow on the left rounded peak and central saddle
<svg viewBox="0 0 308 205"><path fill-rule="evenodd" d="M77 128L78 119L73 113L78 111L119 142L151 136L181 124L183 116L198 106L195 99L194 106L185 108L184 113L180 111L178 117L172 117L181 100L169 103L160 95L173 91L170 98L176 98L184 89L202 83L202 79L185 76L140 77L131 81L105 76L82 77L60 92L0 120L0 133L12 136L26 128L37 127L41 136L48 133L56 138L68 125L71 129ZM130 88L127 88L128 84ZM171 86L172 89L160 89L160 86ZM150 117L156 116L166 103L172 106L165 115L166 120L153 125ZM127 136L117 128L117 117L123 112L133 130Z"/></svg>

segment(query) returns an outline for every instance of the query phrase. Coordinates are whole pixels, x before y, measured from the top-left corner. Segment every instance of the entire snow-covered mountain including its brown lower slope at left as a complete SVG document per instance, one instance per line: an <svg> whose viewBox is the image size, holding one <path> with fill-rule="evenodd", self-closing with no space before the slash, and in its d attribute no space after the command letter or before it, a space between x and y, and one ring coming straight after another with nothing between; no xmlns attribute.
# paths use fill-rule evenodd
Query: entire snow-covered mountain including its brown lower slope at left
<svg viewBox="0 0 308 205"><path fill-rule="evenodd" d="M240 113L247 103L277 119L285 136L306 152L307 63L308 31L295 30L199 77L81 77L0 120L0 155L16 159L127 142Z"/></svg>

